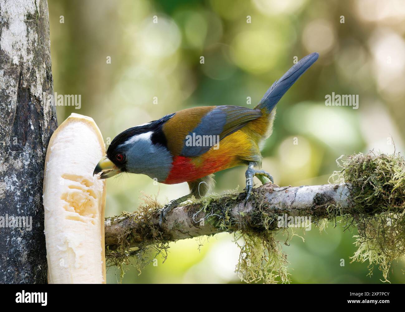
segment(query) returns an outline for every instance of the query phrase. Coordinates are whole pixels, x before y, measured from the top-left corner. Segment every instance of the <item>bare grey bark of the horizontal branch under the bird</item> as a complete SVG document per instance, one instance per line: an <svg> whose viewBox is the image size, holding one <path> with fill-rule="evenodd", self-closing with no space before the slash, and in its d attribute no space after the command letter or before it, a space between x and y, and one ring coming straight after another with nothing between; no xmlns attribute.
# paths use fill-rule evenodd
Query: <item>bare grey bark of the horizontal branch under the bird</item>
<svg viewBox="0 0 405 312"><path fill-rule="evenodd" d="M331 205L341 207L340 212L351 212L349 190L345 184L324 184L315 186L279 187L266 184L254 189L257 195L244 206L245 194L223 195L211 201L205 212L201 204L191 204L173 209L167 217L158 241L176 241L200 235L211 235L224 230L215 227L209 218L221 218L212 215L212 209L230 203L231 218L234 220L230 230L237 231L241 225L245 228L260 231L260 224L255 217L261 214L258 201L265 213L288 216L311 216L312 220L328 218L333 211ZM231 200L227 198L233 197ZM227 204L225 204L227 205ZM211 216L209 216L211 215ZM202 220L204 219L204 222ZM158 212L145 222L145 218L137 213L106 218L105 244L110 250L126 242L131 247L145 246L158 242L154 229L158 229ZM274 227L277 227L275 222Z"/></svg>

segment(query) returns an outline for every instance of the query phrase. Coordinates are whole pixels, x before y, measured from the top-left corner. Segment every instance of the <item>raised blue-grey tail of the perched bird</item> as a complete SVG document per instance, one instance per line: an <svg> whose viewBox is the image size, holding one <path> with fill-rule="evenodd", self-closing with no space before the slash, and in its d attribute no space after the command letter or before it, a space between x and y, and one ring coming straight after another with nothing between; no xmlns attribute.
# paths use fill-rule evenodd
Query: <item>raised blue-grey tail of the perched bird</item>
<svg viewBox="0 0 405 312"><path fill-rule="evenodd" d="M267 113L270 113L281 97L290 89L294 82L318 60L318 57L319 53L313 52L302 58L297 64L294 64L283 77L273 83L255 109L266 109Z"/></svg>

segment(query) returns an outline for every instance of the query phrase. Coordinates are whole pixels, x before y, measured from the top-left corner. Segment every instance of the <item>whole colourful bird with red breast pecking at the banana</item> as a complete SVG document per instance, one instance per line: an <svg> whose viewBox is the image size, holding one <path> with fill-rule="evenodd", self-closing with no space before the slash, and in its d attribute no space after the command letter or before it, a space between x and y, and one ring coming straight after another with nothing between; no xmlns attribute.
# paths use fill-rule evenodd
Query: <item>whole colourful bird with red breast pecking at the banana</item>
<svg viewBox="0 0 405 312"><path fill-rule="evenodd" d="M163 207L162 226L173 207L192 196L207 194L215 183L215 172L245 165L246 205L254 176L262 184L269 180L273 183L273 177L259 169L260 147L273 131L275 105L318 57L319 53L314 52L294 64L254 109L234 105L193 107L121 132L94 175L101 173L99 179L106 179L128 172L145 174L164 184L187 182L190 194Z"/></svg>

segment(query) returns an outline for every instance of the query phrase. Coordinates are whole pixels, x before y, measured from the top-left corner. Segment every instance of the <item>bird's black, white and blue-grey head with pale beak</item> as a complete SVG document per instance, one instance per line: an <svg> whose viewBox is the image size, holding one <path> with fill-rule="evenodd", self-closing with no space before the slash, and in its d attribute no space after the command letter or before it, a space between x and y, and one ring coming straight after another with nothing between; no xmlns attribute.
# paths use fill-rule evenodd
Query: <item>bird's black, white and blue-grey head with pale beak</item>
<svg viewBox="0 0 405 312"><path fill-rule="evenodd" d="M129 128L117 135L100 160L94 174L99 179L112 177L120 172L145 174L158 182L166 180L172 167L173 156L167 149L162 125L174 114Z"/></svg>

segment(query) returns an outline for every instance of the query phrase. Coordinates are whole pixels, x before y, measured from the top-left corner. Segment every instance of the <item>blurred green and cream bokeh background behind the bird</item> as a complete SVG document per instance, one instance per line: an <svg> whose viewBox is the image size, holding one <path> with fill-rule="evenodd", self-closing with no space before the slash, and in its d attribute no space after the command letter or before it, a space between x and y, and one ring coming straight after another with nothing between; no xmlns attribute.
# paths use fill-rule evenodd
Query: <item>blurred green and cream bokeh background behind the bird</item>
<svg viewBox="0 0 405 312"><path fill-rule="evenodd" d="M119 132L180 109L254 107L294 59L318 51L319 60L277 106L262 154L264 169L279 185L326 184L341 154L392 153L391 138L396 150L403 150L405 9L399 4L49 1L54 91L81 95L81 109L57 107L59 123L72 112L89 115L108 145ZM358 109L326 106L332 92L358 94ZM238 185L242 191L244 173L243 167L217 173L215 192ZM158 194L162 203L188 192L187 184L154 185L143 175L109 179L107 189L107 216L135 210L141 191ZM293 283L381 283L377 269L370 278L367 263L350 264L355 231L330 224L322 234L315 227L296 232L305 242L294 237L283 246ZM157 266L141 275L131 268L123 282L238 283L238 257L231 234L186 239L170 244L166 262L158 257ZM404 264L394 263L391 282L405 281ZM109 269L109 283L117 282L116 273Z"/></svg>

